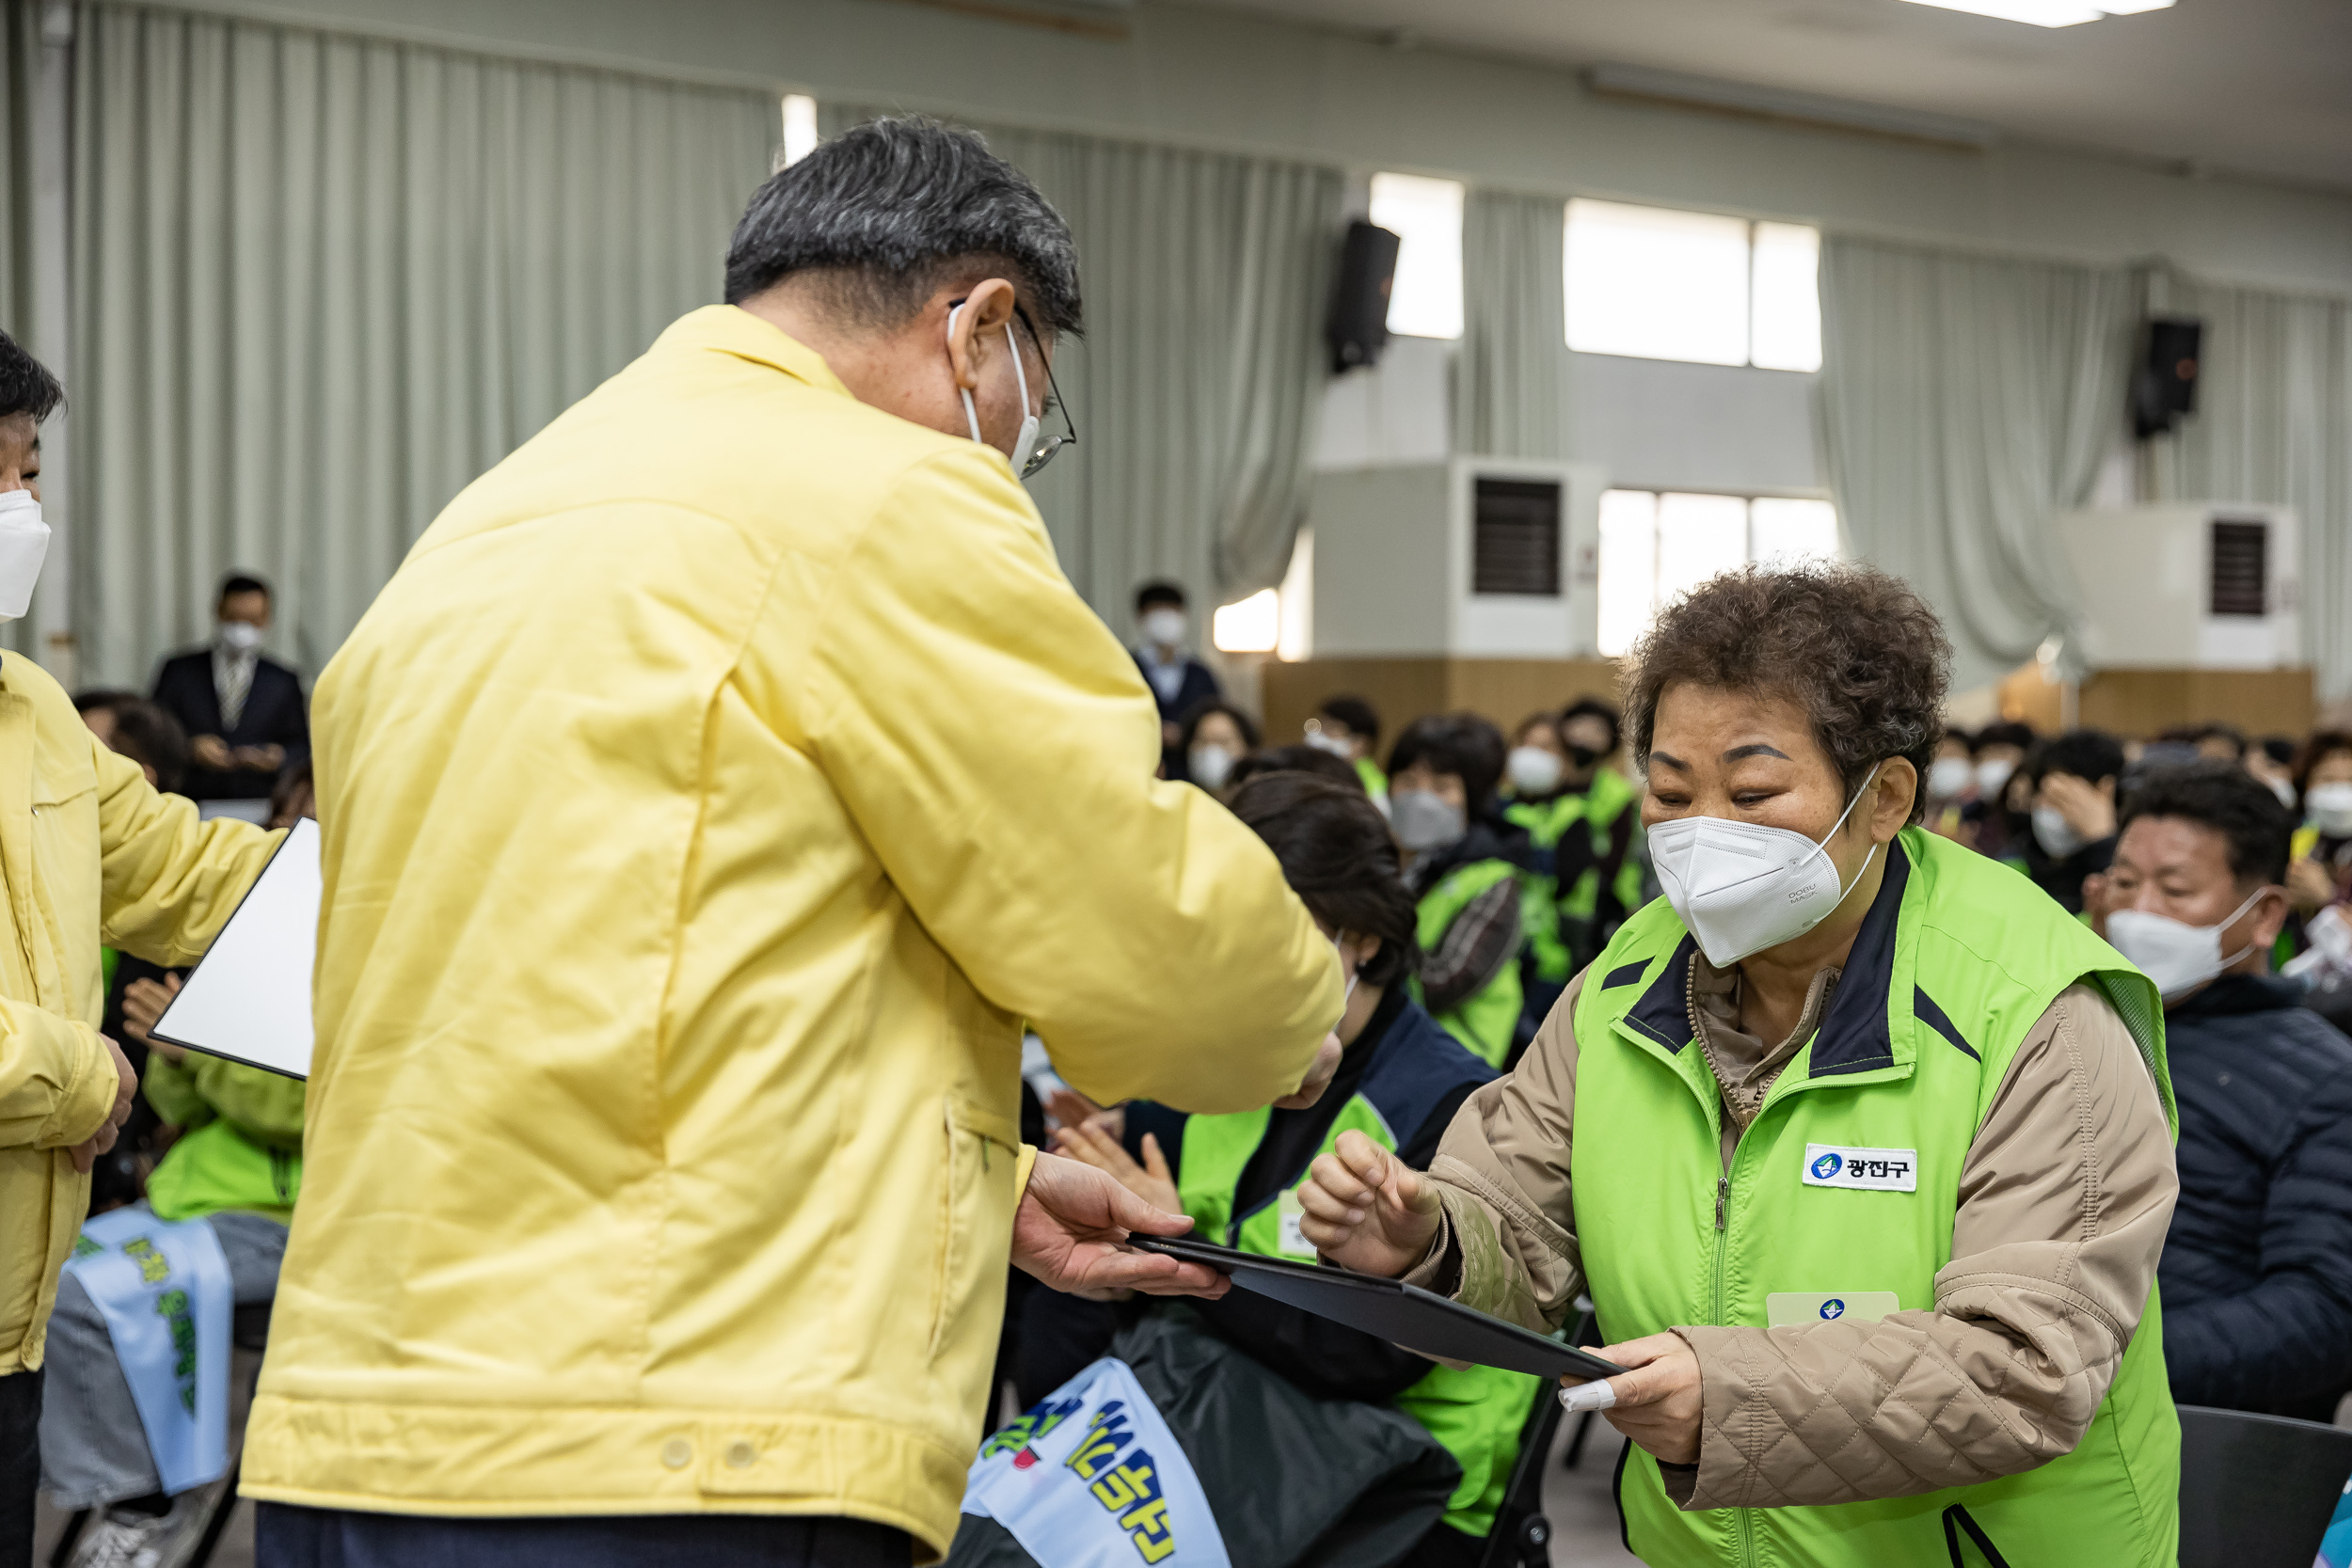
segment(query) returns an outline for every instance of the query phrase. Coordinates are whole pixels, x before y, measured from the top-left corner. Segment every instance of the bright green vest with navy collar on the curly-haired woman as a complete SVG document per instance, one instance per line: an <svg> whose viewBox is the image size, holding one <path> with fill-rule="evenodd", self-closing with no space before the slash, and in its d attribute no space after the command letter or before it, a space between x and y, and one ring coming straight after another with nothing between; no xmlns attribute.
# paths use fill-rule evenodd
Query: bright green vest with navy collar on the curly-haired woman
<svg viewBox="0 0 2352 1568"><path fill-rule="evenodd" d="M1571 1201L1611 1342L1675 1324L1762 1328L1773 1293L1809 1293L1799 1307L1823 1316L1882 1291L1905 1312L1933 1309L1969 1143L2025 1032L2077 980L2114 1004L2173 1119L2164 1004L2147 976L2009 870L1905 827L1820 1027L1726 1173L1722 1093L1691 1048L1691 954L1661 898L1625 922L1576 1006ZM1842 1152L1865 1157L1877 1190L1837 1190ZM1889 1190L1905 1159L1917 1187ZM2178 1493L2154 1286L2082 1443L2039 1469L1886 1502L1693 1514L1668 1502L1639 1448L1618 1479L1628 1542L1653 1568L1947 1563L1955 1505L2013 1568L2169 1568Z"/></svg>

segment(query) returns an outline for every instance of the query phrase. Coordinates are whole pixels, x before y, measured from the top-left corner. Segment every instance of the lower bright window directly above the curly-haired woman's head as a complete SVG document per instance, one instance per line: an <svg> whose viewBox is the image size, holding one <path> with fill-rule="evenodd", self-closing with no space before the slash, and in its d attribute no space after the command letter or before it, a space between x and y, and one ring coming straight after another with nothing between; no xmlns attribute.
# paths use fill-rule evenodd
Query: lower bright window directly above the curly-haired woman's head
<svg viewBox="0 0 2352 1568"><path fill-rule="evenodd" d="M1837 559L1837 508L1828 501L1602 491L1602 656L1621 656L1675 595L1710 576L1809 559Z"/></svg>

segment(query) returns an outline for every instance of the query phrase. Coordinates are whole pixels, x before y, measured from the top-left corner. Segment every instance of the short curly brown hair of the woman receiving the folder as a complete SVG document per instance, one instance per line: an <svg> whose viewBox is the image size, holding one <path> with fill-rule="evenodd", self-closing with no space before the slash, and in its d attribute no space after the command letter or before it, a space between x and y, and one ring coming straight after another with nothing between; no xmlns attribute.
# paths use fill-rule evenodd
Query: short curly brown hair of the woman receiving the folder
<svg viewBox="0 0 2352 1568"><path fill-rule="evenodd" d="M1877 567L1748 567L1658 611L1625 656L1632 752L1649 766L1658 693L1675 682L1792 698L1851 797L1870 769L1903 757L1919 776L1943 741L1952 644L1898 576ZM1912 792L1912 816L1924 813Z"/></svg>

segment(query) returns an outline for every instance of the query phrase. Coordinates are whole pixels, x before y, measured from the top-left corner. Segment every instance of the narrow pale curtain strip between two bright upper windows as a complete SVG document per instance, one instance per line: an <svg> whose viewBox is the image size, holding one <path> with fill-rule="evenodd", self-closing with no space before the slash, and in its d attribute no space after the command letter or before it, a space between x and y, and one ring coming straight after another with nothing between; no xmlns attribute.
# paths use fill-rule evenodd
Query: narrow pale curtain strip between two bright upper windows
<svg viewBox="0 0 2352 1568"><path fill-rule="evenodd" d="M1454 447L1564 458L1566 202L1472 190L1463 202L1463 343L1454 357Z"/></svg>

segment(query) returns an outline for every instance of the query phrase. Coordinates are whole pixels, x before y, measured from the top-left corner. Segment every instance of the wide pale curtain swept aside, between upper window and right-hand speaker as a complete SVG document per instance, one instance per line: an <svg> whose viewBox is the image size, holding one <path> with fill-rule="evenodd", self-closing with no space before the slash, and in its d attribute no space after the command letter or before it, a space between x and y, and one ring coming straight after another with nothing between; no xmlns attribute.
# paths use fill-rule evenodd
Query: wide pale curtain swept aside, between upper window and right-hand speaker
<svg viewBox="0 0 2352 1568"><path fill-rule="evenodd" d="M2136 320L2124 268L1823 237L1830 482L1853 550L1943 616L1955 689L2074 625L2049 524L2122 428Z"/></svg>

